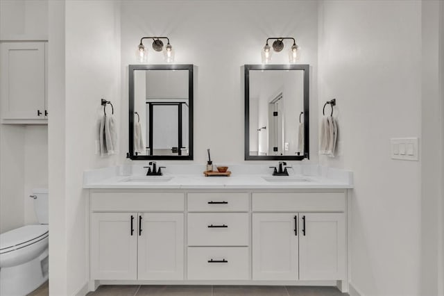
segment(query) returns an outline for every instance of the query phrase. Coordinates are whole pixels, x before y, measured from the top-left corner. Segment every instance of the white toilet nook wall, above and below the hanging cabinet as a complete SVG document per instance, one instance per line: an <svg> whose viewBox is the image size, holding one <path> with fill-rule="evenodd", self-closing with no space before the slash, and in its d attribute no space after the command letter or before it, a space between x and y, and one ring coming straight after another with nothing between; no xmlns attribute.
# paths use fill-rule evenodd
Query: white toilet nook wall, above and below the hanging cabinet
<svg viewBox="0 0 444 296"><path fill-rule="evenodd" d="M0 1L0 41L47 40L48 1ZM2 124L0 233L37 222L33 188L48 186L47 127Z"/></svg>

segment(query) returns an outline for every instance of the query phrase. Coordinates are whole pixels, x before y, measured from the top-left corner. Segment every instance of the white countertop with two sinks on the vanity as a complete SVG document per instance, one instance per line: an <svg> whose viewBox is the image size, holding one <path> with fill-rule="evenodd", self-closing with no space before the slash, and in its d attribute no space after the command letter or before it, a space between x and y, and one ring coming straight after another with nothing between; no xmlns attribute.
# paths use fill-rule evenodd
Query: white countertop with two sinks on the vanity
<svg viewBox="0 0 444 296"><path fill-rule="evenodd" d="M163 165L163 164L162 164ZM160 165L159 165L160 166ZM293 165L290 176L272 176L269 165L229 165L231 176L204 176L203 165L166 165L163 176L145 176L142 165L87 171L83 188L293 189L353 188L352 172L319 165ZM122 174L126 170L126 174ZM128 174L129 172L129 174Z"/></svg>

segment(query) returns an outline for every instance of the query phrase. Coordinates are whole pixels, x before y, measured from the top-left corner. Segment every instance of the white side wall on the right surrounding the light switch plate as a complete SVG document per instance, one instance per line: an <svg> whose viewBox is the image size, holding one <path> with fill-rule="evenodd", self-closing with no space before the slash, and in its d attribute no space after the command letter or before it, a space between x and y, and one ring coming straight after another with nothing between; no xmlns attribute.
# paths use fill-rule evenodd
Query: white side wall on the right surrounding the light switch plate
<svg viewBox="0 0 444 296"><path fill-rule="evenodd" d="M336 98L341 138L341 155L320 162L354 172L350 282L362 295L429 295L421 283L421 202L429 198L421 199L421 167L434 147L425 147L422 124L439 117L420 112L429 108L424 80L436 85L437 74L423 76L422 26L436 17L423 8L421 1L324 1L319 11L319 106ZM398 137L422 139L420 162L391 159L390 138Z"/></svg>

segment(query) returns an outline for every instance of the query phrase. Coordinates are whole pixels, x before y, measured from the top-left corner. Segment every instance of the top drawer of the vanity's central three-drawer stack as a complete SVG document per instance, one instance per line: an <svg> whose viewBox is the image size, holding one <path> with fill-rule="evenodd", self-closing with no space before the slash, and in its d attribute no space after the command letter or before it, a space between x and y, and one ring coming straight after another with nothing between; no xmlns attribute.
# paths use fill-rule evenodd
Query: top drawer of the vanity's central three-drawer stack
<svg viewBox="0 0 444 296"><path fill-rule="evenodd" d="M190 212L248 211L248 193L188 193Z"/></svg>

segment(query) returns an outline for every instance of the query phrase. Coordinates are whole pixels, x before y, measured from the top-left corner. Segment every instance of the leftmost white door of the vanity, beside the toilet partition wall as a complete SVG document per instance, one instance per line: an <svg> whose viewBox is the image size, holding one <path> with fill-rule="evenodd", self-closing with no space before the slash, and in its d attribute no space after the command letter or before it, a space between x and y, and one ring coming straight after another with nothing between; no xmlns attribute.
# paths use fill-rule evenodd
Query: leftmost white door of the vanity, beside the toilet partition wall
<svg viewBox="0 0 444 296"><path fill-rule="evenodd" d="M93 213L92 279L137 279L137 213Z"/></svg>

